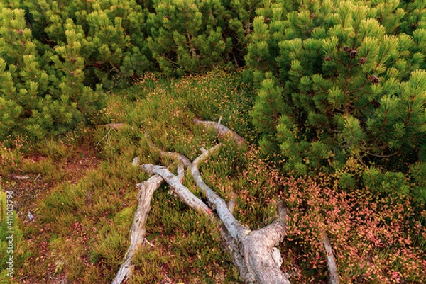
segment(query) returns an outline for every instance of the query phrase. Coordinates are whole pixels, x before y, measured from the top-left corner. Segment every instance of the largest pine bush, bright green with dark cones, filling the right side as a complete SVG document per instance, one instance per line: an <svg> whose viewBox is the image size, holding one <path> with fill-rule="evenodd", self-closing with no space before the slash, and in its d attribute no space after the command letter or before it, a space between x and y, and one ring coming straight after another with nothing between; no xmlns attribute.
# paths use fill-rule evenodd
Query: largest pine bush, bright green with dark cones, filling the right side
<svg viewBox="0 0 426 284"><path fill-rule="evenodd" d="M368 188L406 195L414 182L424 202L423 2L276 2L258 9L246 57L263 151L299 175L355 161Z"/></svg>

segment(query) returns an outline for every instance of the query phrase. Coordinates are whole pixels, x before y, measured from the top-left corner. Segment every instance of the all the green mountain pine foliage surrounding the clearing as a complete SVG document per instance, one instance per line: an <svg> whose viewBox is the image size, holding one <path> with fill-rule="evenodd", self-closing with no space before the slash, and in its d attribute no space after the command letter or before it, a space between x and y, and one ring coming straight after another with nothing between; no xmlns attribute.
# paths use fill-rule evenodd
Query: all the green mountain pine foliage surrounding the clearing
<svg viewBox="0 0 426 284"><path fill-rule="evenodd" d="M388 177L400 180L391 186L398 194L413 183L425 199L421 183L398 174L417 172L426 159L424 1L3 6L0 140L40 139L93 121L101 84L111 89L155 69L182 75L239 66L245 56L259 83L251 115L261 148L287 171L334 172L353 158L381 182L359 173L344 173L344 181L350 174L385 188Z"/></svg>

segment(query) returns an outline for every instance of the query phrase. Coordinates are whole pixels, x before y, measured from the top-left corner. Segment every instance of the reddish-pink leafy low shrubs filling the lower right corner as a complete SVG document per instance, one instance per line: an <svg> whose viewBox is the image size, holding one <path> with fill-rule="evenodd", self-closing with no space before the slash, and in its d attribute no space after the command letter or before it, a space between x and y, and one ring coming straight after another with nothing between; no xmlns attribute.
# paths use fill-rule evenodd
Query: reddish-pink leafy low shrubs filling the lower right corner
<svg viewBox="0 0 426 284"><path fill-rule="evenodd" d="M422 283L424 208L419 213L413 200L378 197L364 189L347 193L333 183L329 176L283 180L281 197L290 208L284 246L293 251L295 266L325 280L321 241L328 234L343 283Z"/></svg>

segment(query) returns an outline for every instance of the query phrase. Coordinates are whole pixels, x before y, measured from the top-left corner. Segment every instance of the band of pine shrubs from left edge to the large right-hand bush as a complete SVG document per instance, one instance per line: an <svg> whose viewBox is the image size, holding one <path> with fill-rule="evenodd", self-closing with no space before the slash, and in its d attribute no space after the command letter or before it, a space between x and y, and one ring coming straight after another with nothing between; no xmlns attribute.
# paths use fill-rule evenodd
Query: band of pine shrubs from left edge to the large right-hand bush
<svg viewBox="0 0 426 284"><path fill-rule="evenodd" d="M92 121L102 108L101 84L111 89L158 69L182 75L242 64L258 6L222 0L0 4L0 141L36 140Z"/></svg>

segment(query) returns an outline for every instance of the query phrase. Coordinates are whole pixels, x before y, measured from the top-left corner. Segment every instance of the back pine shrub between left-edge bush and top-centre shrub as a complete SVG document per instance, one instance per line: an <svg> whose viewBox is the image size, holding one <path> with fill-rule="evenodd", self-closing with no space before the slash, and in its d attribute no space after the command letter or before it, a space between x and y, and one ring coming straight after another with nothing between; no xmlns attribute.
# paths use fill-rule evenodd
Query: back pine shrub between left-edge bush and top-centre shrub
<svg viewBox="0 0 426 284"><path fill-rule="evenodd" d="M153 65L146 45L146 11L136 1L28 1L28 21L48 47L64 46L73 25L82 46L84 84L110 88Z"/></svg>

